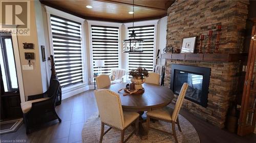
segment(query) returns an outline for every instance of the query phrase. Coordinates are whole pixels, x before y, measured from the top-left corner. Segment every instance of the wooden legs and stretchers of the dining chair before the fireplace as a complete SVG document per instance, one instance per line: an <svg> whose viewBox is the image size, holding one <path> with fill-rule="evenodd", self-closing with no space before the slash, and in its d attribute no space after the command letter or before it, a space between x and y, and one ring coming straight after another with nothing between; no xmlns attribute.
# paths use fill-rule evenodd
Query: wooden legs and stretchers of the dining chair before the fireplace
<svg viewBox="0 0 256 143"><path fill-rule="evenodd" d="M168 122L168 123L172 123L173 133L166 132L166 131L163 131L163 130L160 130L160 129L157 129L157 128L150 127L150 119L155 119L155 120L160 120L160 121L165 121L165 122ZM182 132L181 131L181 127L180 127L180 123L179 123L179 117L177 118L177 120L175 122L175 121L164 120L164 119L160 119L160 118L156 118L156 117L151 117L151 116L147 115L147 117L146 117L146 124L147 124L147 131L148 132L150 131L150 129L154 129L156 131L163 132L163 133L165 133L167 135L173 135L174 138L175 138L175 142L178 143L177 134L176 134L176 130L175 130L175 124L178 125L179 131Z"/></svg>

